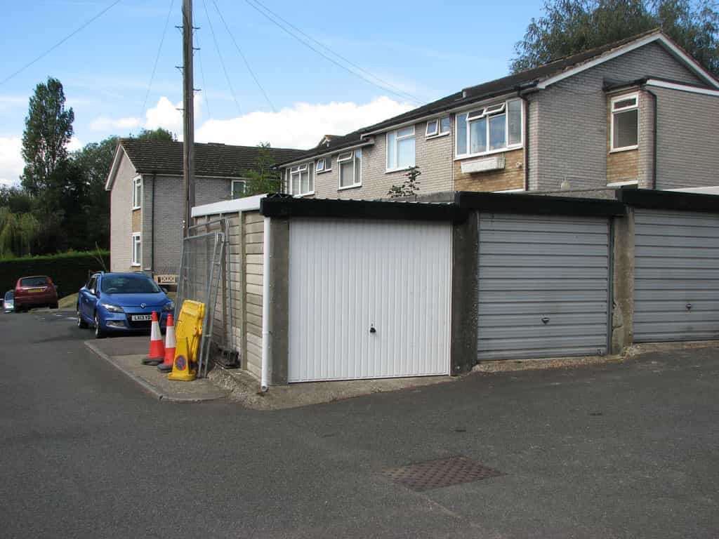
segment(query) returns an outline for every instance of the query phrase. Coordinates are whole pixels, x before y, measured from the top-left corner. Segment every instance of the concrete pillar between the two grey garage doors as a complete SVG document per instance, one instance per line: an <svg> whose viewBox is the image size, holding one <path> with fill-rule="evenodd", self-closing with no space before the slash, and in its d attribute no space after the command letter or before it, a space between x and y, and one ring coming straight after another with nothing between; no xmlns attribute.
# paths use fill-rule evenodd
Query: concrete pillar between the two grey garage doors
<svg viewBox="0 0 719 539"><path fill-rule="evenodd" d="M612 342L611 354L634 341L634 210L613 218Z"/></svg>

